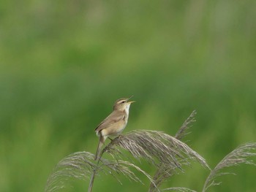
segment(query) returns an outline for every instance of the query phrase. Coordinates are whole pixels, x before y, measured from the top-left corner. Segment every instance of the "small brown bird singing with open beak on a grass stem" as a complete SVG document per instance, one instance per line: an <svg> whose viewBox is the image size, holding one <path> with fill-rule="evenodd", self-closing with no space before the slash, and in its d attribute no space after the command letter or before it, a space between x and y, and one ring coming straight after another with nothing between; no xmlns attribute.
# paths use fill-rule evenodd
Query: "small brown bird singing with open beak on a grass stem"
<svg viewBox="0 0 256 192"><path fill-rule="evenodd" d="M95 129L95 132L99 137L99 145L94 160L99 158L99 151L105 140L109 136L121 134L125 126L127 126L129 106L135 102L129 101L131 98L132 96L129 98L118 99L113 106L113 112L111 112L105 120L102 120L102 123L99 123L99 126Z"/></svg>

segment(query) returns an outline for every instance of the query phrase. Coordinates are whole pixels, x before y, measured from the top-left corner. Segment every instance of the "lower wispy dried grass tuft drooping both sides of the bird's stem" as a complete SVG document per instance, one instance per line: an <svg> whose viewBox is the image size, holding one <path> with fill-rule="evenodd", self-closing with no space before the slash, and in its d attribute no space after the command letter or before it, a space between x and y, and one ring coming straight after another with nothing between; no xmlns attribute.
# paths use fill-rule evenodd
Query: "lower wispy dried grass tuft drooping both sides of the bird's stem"
<svg viewBox="0 0 256 192"><path fill-rule="evenodd" d="M59 164L53 169L45 185L45 192L59 191L61 188L66 188L67 182L71 179L89 180L91 175L94 177L95 174L97 175L99 172L112 175L119 183L121 183L121 181L118 179L118 176L123 174L129 180L143 184L136 176L135 172L132 172L132 169L144 174L148 180L154 183L154 180L149 174L128 161L101 158L99 162L95 164L94 154L92 153L72 153L59 161Z"/></svg>

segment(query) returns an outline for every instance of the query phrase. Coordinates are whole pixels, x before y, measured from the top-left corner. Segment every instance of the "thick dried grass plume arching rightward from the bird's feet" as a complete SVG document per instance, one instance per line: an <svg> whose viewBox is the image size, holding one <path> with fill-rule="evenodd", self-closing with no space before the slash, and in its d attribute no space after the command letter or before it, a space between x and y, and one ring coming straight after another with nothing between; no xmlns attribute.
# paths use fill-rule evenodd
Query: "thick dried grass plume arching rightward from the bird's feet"
<svg viewBox="0 0 256 192"><path fill-rule="evenodd" d="M121 149L129 151L137 159L144 158L156 166L159 166L160 162L181 169L182 164L189 164L188 160L193 159L208 167L206 160L184 142L162 131L130 131L113 139L102 153L107 152L114 158L121 158Z"/></svg>

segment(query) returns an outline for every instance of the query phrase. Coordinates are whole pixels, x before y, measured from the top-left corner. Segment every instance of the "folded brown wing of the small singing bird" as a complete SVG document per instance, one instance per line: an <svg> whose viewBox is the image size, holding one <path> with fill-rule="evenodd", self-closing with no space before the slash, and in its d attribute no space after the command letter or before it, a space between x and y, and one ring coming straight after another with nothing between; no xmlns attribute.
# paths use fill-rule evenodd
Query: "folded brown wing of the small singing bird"
<svg viewBox="0 0 256 192"><path fill-rule="evenodd" d="M116 123L118 120L124 119L124 112L121 111L113 111L108 115L105 120L102 120L102 123L99 123L99 126L95 128L95 131L101 131L103 128L107 128L108 126L112 125L113 123Z"/></svg>

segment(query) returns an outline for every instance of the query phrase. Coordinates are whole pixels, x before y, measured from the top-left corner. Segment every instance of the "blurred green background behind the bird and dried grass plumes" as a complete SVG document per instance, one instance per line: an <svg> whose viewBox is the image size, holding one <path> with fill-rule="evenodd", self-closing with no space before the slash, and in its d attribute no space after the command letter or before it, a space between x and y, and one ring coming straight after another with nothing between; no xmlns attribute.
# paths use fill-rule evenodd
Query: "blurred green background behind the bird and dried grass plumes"
<svg viewBox="0 0 256 192"><path fill-rule="evenodd" d="M256 1L7 1L0 3L0 191L44 191L53 167L95 153L97 124L134 95L125 132L175 134L192 110L189 146L214 167L256 141ZM185 140L186 140L185 139ZM154 169L143 164L143 169ZM239 166L210 191L255 191ZM192 164L163 187L200 191ZM147 191L97 177L94 191ZM68 191L87 191L75 182Z"/></svg>

